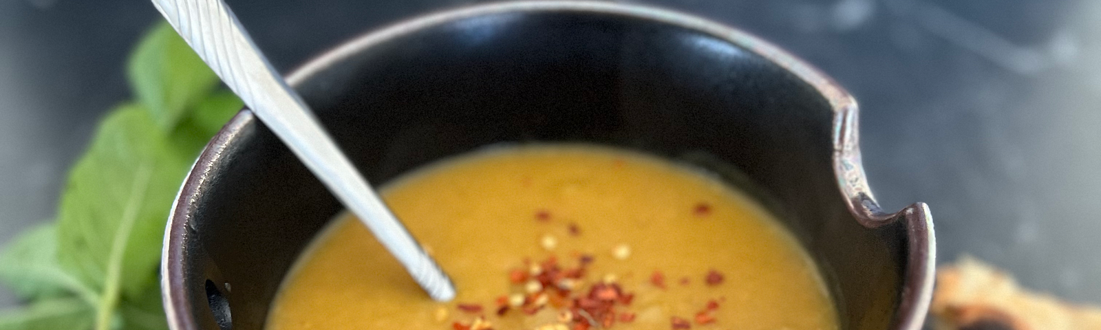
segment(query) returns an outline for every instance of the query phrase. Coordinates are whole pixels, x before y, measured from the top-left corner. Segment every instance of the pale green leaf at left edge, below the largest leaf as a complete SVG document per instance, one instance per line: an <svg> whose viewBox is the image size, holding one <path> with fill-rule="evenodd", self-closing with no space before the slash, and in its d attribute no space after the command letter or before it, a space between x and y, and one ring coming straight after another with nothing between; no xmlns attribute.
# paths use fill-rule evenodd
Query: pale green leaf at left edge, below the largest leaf
<svg viewBox="0 0 1101 330"><path fill-rule="evenodd" d="M0 254L0 280L23 299L58 297L76 293L88 302L96 293L57 263L57 231L44 223L24 231Z"/></svg>

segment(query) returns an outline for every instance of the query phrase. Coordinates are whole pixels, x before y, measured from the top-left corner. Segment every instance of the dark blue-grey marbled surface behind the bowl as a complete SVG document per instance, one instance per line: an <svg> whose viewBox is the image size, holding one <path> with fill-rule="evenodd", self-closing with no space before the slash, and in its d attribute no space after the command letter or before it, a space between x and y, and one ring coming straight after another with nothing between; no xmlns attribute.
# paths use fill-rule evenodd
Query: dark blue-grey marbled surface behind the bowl
<svg viewBox="0 0 1101 330"><path fill-rule="evenodd" d="M458 0L230 0L288 70L361 32ZM971 254L1026 286L1101 302L1101 2L651 1L761 35L862 108L887 208L926 201L939 261ZM128 99L144 1L0 1L0 242L54 216L96 120ZM0 306L12 304L0 293Z"/></svg>

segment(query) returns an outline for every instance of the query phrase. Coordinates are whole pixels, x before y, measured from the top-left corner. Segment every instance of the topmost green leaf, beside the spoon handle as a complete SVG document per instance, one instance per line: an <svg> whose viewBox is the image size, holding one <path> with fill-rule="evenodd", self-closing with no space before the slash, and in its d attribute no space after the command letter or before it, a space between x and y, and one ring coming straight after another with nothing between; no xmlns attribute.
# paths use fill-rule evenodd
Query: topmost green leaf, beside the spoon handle
<svg viewBox="0 0 1101 330"><path fill-rule="evenodd" d="M130 85L153 120L172 130L186 110L203 100L218 77L167 23L138 44L128 66Z"/></svg>

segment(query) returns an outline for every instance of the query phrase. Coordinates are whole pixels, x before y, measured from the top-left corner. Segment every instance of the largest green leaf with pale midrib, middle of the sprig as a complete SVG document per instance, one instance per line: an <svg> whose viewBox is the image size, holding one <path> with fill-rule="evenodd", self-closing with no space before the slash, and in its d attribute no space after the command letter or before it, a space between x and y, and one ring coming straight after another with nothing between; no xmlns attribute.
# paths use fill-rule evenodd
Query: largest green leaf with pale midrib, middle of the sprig
<svg viewBox="0 0 1101 330"><path fill-rule="evenodd" d="M119 294L155 283L168 208L194 154L173 148L140 106L115 110L69 173L58 210L58 260L99 290L100 311Z"/></svg>

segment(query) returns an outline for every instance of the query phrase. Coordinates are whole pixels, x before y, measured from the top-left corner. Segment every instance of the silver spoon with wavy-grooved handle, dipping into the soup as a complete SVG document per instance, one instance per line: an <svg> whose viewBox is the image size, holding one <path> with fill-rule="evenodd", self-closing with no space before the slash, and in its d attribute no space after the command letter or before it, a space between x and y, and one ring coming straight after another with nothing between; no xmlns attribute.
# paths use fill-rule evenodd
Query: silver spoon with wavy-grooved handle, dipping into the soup
<svg viewBox="0 0 1101 330"><path fill-rule="evenodd" d="M455 297L436 261L383 205L222 0L152 0L221 80L374 233L433 299Z"/></svg>

